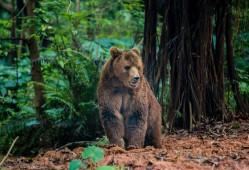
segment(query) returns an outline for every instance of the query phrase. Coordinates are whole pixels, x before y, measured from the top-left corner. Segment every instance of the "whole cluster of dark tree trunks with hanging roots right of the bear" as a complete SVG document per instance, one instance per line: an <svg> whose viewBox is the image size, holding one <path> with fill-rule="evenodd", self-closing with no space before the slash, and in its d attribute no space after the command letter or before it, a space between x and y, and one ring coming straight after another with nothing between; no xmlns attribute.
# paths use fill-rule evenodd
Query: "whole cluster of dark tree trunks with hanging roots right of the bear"
<svg viewBox="0 0 249 170"><path fill-rule="evenodd" d="M229 2L231 5L231 0ZM227 11L226 1L165 2L158 58L154 36L156 3L145 1L143 62L155 92L161 81L163 94L169 58L170 103L167 117L170 130L177 126L191 131L200 128L201 123L205 125L208 121L224 120L225 34L228 70L235 99L240 110L248 111L239 94L231 44L231 9Z"/></svg>

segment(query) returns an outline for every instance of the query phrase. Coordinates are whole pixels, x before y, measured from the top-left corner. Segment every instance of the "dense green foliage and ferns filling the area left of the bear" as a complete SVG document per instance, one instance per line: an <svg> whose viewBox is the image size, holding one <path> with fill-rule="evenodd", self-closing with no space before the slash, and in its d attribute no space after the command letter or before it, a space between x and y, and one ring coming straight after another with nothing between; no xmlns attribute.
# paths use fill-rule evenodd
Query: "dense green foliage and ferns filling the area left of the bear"
<svg viewBox="0 0 249 170"><path fill-rule="evenodd" d="M39 44L35 67L41 67L44 83L31 82L34 61L24 41L0 40L1 152L17 134L23 134L16 143L19 151L33 151L41 143L54 146L102 135L96 97L101 66L112 45L127 49L141 41L143 2L91 0L79 5L76 11L75 1L36 1L34 18L25 16L25 10L15 18L15 37L25 34L24 38L35 37ZM11 16L5 11L0 17L0 37L8 39L13 20L8 20ZM37 31L28 35L31 21ZM13 51L18 59L11 62ZM34 85L44 87L43 119L49 127L42 127L34 108ZM99 144L107 142L103 139Z"/></svg>

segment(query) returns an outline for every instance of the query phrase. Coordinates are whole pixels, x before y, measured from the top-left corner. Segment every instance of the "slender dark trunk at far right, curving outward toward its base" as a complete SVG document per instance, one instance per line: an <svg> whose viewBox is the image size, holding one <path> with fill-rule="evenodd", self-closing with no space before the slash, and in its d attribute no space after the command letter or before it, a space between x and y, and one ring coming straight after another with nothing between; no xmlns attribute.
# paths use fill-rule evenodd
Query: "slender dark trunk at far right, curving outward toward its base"
<svg viewBox="0 0 249 170"><path fill-rule="evenodd" d="M232 90L234 94L234 99L236 101L238 110L242 112L244 117L248 117L247 113L249 108L243 102L240 90L238 77L236 74L235 64L234 64L234 54L233 54L233 45L232 45L232 0L227 0L227 15L226 15L226 50L227 50L227 66L228 66L228 76L230 83L232 85Z"/></svg>

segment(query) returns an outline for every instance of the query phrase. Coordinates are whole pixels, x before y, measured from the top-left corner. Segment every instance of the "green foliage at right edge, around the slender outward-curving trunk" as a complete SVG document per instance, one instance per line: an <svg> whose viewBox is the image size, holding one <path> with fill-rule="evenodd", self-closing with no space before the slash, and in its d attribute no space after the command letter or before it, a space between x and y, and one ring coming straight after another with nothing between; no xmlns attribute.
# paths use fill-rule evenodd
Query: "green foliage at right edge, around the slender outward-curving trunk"
<svg viewBox="0 0 249 170"><path fill-rule="evenodd" d="M234 61L238 75L239 89L245 103L249 102L249 9L243 3L233 8L235 24L233 27ZM226 80L225 99L230 108L236 109L231 82Z"/></svg>

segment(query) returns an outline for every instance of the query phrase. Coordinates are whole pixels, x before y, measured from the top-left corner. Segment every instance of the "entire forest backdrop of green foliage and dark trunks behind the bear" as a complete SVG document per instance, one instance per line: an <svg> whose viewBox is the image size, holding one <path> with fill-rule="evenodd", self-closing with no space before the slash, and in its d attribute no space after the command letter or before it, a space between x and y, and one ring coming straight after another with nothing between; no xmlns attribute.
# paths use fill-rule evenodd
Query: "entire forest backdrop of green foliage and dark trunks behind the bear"
<svg viewBox="0 0 249 170"><path fill-rule="evenodd" d="M163 133L248 119L246 0L2 0L0 151L106 140L96 86L113 45L139 47Z"/></svg>

